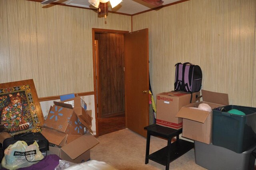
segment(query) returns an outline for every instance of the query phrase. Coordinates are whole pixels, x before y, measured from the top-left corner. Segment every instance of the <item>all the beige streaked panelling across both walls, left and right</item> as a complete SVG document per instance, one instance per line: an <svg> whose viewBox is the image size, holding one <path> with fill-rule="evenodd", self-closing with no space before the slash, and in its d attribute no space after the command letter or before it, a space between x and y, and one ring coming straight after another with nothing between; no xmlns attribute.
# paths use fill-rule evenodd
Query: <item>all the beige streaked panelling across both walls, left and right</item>
<svg viewBox="0 0 256 170"><path fill-rule="evenodd" d="M44 5L45 6L45 5ZM39 97L93 91L92 28L128 30L131 17L0 0L0 83L33 78ZM201 66L203 89L256 107L256 0L190 0L132 17L149 28L154 95L174 89L174 65Z"/></svg>

